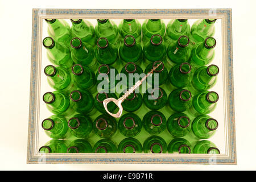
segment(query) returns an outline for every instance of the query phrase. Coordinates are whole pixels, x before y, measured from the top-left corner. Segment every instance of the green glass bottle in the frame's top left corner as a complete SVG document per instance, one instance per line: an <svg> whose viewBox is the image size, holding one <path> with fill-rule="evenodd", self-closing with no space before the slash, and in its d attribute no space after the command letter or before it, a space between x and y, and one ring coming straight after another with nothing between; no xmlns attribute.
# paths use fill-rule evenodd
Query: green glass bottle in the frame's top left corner
<svg viewBox="0 0 256 182"><path fill-rule="evenodd" d="M63 19L45 19L48 23L48 34L56 42L64 43L66 46L69 45L70 40L72 39L71 36L71 28L69 24Z"/></svg>

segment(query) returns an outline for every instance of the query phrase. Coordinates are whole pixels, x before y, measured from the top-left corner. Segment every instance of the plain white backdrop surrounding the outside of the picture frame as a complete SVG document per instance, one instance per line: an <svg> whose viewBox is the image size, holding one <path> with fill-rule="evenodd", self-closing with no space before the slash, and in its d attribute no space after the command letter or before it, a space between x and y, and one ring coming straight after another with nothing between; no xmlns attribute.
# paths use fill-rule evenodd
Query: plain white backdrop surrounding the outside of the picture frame
<svg viewBox="0 0 256 182"><path fill-rule="evenodd" d="M255 1L3 1L0 0L0 169L238 170L256 169ZM32 9L232 8L237 166L191 164L26 164Z"/></svg>

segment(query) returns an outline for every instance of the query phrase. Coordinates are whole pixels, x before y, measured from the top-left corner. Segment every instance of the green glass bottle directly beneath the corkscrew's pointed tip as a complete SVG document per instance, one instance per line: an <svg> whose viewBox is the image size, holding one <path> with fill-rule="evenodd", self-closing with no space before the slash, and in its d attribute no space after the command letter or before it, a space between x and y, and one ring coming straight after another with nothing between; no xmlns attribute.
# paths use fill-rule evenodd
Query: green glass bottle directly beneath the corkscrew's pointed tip
<svg viewBox="0 0 256 182"><path fill-rule="evenodd" d="M162 61L155 61L154 63L148 64L147 67L145 68L144 73L147 74L148 72L151 71L151 69L153 69L154 67L156 67L156 65L160 63L161 65L159 65L159 67L155 69L154 74L151 74L150 76L147 77L147 83L150 84L151 86L163 85L166 83L166 80L168 79L168 71ZM156 73L158 74L158 76L156 76ZM156 81L155 78L156 80L158 78L158 81Z"/></svg>

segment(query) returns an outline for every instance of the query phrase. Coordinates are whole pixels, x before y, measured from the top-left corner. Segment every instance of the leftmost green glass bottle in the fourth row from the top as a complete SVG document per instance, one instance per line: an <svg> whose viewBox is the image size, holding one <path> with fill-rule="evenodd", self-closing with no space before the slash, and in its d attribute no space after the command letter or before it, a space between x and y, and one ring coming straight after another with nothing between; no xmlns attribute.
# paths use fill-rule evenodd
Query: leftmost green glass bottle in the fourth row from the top
<svg viewBox="0 0 256 182"><path fill-rule="evenodd" d="M43 101L46 103L47 109L54 114L66 115L73 113L69 98L59 90L44 93Z"/></svg>

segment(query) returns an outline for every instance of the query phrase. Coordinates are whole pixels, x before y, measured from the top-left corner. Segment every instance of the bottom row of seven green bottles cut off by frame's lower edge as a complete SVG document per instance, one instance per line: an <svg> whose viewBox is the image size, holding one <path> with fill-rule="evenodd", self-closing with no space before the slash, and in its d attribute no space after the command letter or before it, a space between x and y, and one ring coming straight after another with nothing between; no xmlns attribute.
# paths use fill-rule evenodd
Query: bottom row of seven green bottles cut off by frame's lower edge
<svg viewBox="0 0 256 182"><path fill-rule="evenodd" d="M46 153L152 153L152 154L220 154L216 145L209 140L201 140L192 144L184 138L175 138L168 144L156 135L148 137L143 146L135 138L125 138L118 146L110 139L98 140L92 147L88 140L75 139L72 142L67 140L53 139L39 148L41 154Z"/></svg>

